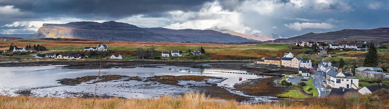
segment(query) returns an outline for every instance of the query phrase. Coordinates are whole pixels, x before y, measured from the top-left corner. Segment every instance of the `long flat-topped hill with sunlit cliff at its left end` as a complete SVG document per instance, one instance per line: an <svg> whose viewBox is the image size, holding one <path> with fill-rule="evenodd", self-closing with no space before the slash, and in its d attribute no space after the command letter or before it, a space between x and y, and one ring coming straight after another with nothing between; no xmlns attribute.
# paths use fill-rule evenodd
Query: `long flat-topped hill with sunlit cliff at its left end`
<svg viewBox="0 0 389 109"><path fill-rule="evenodd" d="M239 36L212 30L140 28L131 24L109 22L69 22L67 24L43 24L26 39L81 38L102 41L154 41L154 42L245 42L253 41Z"/></svg>

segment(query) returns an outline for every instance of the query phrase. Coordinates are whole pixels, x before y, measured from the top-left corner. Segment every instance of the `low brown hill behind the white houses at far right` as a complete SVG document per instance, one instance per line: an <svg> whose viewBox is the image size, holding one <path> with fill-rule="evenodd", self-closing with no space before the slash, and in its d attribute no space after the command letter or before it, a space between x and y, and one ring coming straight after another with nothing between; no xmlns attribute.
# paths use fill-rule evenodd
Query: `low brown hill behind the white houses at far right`
<svg viewBox="0 0 389 109"><path fill-rule="evenodd" d="M324 33L307 33L287 39L276 39L273 42L291 43L296 41L331 41L331 40L361 40L361 41L387 41L389 40L389 28L376 29L342 29Z"/></svg>

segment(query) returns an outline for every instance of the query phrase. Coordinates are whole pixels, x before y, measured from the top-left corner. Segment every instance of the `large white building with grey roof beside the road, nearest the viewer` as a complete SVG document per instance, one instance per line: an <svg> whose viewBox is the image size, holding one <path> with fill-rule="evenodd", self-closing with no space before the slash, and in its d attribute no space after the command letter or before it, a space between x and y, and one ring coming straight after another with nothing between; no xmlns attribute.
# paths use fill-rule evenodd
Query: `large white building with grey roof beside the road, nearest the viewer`
<svg viewBox="0 0 389 109"><path fill-rule="evenodd" d="M330 69L326 72L326 84L333 88L345 87L346 89L359 87L359 79L352 76L352 73Z"/></svg>

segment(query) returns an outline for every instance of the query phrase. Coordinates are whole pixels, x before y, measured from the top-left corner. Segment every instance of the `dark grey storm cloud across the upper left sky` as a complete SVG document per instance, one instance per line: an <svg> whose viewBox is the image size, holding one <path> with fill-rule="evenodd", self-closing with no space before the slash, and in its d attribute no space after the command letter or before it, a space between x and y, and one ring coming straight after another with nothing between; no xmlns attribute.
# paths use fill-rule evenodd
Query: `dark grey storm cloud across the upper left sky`
<svg viewBox="0 0 389 109"><path fill-rule="evenodd" d="M13 5L21 12L46 17L111 17L160 14L171 10L197 11L214 0L1 0L0 6Z"/></svg>

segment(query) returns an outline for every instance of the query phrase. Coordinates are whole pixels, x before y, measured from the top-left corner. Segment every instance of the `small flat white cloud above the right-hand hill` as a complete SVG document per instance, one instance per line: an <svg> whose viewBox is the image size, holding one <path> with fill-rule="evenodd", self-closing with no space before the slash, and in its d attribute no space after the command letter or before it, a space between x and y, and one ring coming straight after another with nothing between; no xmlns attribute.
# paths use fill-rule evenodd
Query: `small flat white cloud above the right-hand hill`
<svg viewBox="0 0 389 109"><path fill-rule="evenodd" d="M332 29L334 26L327 23L299 23L294 22L293 24L284 24L284 26L289 27L290 29L294 29L297 31L301 31L303 29Z"/></svg>

